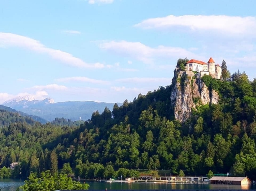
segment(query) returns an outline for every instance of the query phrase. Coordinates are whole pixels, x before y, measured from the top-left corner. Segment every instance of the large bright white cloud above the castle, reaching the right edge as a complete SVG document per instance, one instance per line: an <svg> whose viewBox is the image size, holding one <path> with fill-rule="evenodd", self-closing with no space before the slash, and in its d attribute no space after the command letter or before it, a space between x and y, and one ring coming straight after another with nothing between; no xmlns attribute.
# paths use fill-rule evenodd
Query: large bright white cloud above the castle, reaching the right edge
<svg viewBox="0 0 256 191"><path fill-rule="evenodd" d="M135 25L143 29L172 29L184 27L190 31L208 31L227 36L255 35L256 18L227 15L183 15L151 18Z"/></svg>

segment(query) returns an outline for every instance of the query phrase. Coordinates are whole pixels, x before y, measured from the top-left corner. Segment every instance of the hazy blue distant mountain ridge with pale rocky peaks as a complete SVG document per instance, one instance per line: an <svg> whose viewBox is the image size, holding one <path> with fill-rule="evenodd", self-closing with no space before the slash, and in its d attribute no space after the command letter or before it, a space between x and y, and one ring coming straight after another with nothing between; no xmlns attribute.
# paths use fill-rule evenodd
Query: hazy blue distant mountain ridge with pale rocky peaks
<svg viewBox="0 0 256 191"><path fill-rule="evenodd" d="M52 98L36 100L32 96L17 97L4 102L2 105L22 111L30 115L39 116L47 121L55 118L65 118L72 121L88 120L94 111L103 112L107 107L112 110L114 103L95 101L67 101L54 103ZM120 103L118 103L120 105Z"/></svg>

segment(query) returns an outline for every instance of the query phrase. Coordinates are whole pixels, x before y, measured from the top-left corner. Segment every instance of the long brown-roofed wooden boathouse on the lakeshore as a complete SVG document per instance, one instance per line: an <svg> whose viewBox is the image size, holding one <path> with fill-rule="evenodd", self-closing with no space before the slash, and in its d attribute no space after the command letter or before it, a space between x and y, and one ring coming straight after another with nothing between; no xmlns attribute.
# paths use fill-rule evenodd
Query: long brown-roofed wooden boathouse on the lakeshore
<svg viewBox="0 0 256 191"><path fill-rule="evenodd" d="M211 184L251 184L251 180L247 177L234 176L213 176L209 181Z"/></svg>

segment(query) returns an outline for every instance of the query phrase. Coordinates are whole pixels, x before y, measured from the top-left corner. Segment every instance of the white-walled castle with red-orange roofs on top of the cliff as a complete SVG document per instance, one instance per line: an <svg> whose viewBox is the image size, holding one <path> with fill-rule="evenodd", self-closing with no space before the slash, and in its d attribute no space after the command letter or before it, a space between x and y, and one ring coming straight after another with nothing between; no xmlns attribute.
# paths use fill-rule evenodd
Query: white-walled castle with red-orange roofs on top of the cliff
<svg viewBox="0 0 256 191"><path fill-rule="evenodd" d="M200 73L200 76L210 75L213 78L221 79L221 66L219 64L215 64L212 57L210 57L207 63L191 59L186 63L186 70L196 71Z"/></svg>

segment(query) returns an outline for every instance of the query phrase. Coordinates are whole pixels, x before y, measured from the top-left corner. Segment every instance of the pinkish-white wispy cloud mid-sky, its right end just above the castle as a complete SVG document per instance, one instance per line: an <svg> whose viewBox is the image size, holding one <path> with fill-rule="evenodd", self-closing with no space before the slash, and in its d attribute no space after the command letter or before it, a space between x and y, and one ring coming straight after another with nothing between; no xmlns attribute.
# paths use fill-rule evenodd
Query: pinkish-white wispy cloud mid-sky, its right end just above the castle
<svg viewBox="0 0 256 191"><path fill-rule="evenodd" d="M197 57L194 53L179 47L148 47L139 42L111 41L100 43L99 47L120 56L132 57L144 63L153 63L154 58ZM198 58L200 59L200 58Z"/></svg>

